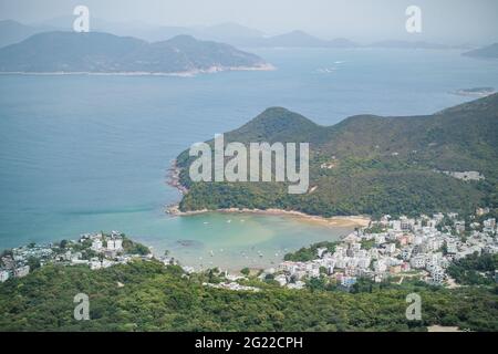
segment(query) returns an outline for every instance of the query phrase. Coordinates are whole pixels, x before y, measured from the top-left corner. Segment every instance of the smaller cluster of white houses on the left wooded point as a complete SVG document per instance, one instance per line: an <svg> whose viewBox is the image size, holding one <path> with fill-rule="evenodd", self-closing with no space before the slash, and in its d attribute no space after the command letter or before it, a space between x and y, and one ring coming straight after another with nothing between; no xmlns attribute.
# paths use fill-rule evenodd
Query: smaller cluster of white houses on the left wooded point
<svg viewBox="0 0 498 354"><path fill-rule="evenodd" d="M14 248L0 258L0 282L27 275L32 267L30 264L33 263L37 267L48 263L85 264L96 270L114 264L125 264L137 257L145 259L153 257L152 253L128 254L123 247L123 233L112 231L111 233L85 233L76 241L62 241L46 246L31 243Z"/></svg>

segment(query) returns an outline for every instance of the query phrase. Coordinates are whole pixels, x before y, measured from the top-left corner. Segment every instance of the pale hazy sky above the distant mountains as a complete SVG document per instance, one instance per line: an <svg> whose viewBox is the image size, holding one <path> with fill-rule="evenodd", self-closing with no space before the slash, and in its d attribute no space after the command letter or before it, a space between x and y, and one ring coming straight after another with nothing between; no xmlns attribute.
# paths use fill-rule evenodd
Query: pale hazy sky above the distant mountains
<svg viewBox="0 0 498 354"><path fill-rule="evenodd" d="M76 4L107 21L164 25L237 22L269 34L304 30L324 38L498 41L497 0L0 0L0 18L37 22ZM405 31L405 9L422 9L423 32Z"/></svg>

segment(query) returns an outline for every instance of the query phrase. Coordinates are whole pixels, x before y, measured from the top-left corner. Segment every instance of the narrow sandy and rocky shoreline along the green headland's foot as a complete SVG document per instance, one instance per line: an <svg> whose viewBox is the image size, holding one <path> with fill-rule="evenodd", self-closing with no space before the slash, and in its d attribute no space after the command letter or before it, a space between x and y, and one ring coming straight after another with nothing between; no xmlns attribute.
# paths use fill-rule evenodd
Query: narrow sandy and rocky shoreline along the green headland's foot
<svg viewBox="0 0 498 354"><path fill-rule="evenodd" d="M295 210L283 210L283 209L237 209L237 208L229 208L229 209L216 209L216 210L209 210L209 209L201 209L201 210L194 210L194 211L180 211L178 209L178 206L173 206L167 209L169 215L173 216L180 216L180 217L187 217L187 216L194 216L194 215L201 215L207 212L221 212L221 214L255 214L255 215L267 215L267 216L289 216L302 221L309 221L309 222L319 222L324 223L326 226L331 227L367 227L371 219L367 216L341 216L341 217L320 217L320 216L313 216L308 215L301 211Z"/></svg>

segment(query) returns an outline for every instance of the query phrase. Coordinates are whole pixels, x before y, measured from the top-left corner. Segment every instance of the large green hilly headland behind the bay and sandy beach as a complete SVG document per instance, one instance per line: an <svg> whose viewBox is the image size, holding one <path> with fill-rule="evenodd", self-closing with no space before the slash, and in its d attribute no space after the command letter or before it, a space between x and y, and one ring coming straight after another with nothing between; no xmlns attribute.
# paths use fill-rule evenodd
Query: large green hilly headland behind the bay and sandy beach
<svg viewBox="0 0 498 354"><path fill-rule="evenodd" d="M187 152L177 158L189 189L181 210L280 208L310 215L415 215L498 206L498 94L426 116L359 115L320 126L268 108L225 142L310 143L310 189L283 183L191 183ZM454 171L478 171L465 181Z"/></svg>

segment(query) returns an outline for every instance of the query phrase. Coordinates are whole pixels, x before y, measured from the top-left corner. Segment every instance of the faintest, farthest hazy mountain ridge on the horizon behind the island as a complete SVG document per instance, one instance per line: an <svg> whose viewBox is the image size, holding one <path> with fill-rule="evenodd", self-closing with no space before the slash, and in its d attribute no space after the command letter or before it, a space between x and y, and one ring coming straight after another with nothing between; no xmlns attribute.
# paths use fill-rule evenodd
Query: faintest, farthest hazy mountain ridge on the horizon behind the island
<svg viewBox="0 0 498 354"><path fill-rule="evenodd" d="M74 17L62 17L37 24L22 24L17 21L0 21L0 48L25 40L32 34L46 31L71 31ZM360 44L350 39L335 38L324 40L304 31L266 35L264 32L238 23L226 22L214 25L176 27L152 25L141 22L108 22L92 18L93 32L112 33L120 37L134 37L148 42L157 42L176 35L191 35L199 40L217 41L239 48L381 48L381 49L434 49L434 50L469 50L469 45L447 45L424 41L385 40L370 44Z"/></svg>

